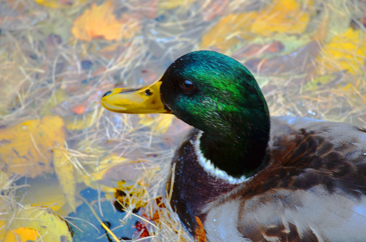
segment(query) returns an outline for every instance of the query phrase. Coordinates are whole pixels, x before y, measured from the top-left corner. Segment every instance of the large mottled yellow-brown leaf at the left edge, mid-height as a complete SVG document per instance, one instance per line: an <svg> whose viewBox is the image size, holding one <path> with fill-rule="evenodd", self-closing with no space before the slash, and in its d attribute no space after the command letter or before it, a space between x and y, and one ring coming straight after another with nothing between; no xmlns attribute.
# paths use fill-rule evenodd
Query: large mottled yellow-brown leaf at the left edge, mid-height
<svg viewBox="0 0 366 242"><path fill-rule="evenodd" d="M52 172L53 146L62 146L64 122L58 116L46 116L16 126L0 128L0 161L8 166L8 174L36 177Z"/></svg>

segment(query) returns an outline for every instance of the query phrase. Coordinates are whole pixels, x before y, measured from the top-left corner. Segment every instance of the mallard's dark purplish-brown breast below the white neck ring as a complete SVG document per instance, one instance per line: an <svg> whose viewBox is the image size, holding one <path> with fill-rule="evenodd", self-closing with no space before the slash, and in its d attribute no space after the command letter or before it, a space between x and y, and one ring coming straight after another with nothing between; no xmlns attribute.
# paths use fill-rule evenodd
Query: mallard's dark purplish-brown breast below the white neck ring
<svg viewBox="0 0 366 242"><path fill-rule="evenodd" d="M202 211L207 204L240 186L239 182L230 183L208 171L212 167L202 166L197 150L201 133L194 128L182 140L173 156L167 181L168 193L172 190L170 203L190 232L196 227L195 216L204 220Z"/></svg>

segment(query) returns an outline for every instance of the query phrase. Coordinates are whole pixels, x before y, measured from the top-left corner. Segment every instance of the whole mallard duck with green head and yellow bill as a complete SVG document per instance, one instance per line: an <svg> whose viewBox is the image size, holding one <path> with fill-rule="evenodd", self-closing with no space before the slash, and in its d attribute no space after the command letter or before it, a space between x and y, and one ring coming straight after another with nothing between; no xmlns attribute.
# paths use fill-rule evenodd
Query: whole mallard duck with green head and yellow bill
<svg viewBox="0 0 366 242"><path fill-rule="evenodd" d="M366 129L270 118L238 61L191 52L150 86L107 92L102 105L172 113L194 127L167 184L192 234L199 222L207 241L366 241Z"/></svg>

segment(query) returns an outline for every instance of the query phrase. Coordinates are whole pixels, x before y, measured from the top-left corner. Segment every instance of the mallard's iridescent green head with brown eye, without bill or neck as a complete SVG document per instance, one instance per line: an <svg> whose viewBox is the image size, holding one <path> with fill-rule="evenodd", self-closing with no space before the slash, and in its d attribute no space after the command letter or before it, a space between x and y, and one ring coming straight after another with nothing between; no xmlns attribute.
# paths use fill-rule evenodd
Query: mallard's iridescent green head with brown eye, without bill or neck
<svg viewBox="0 0 366 242"><path fill-rule="evenodd" d="M188 53L161 78L160 95L172 113L212 138L234 136L242 123L268 116L253 75L238 61L213 51Z"/></svg>

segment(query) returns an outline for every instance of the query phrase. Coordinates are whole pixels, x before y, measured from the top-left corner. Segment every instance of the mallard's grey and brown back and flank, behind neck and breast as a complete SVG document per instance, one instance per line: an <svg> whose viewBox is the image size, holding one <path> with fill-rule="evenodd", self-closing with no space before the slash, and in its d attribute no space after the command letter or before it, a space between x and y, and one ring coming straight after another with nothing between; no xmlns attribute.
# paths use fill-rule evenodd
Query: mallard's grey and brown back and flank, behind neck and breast
<svg viewBox="0 0 366 242"><path fill-rule="evenodd" d="M366 130L273 117L266 166L202 212L209 241L366 241Z"/></svg>

